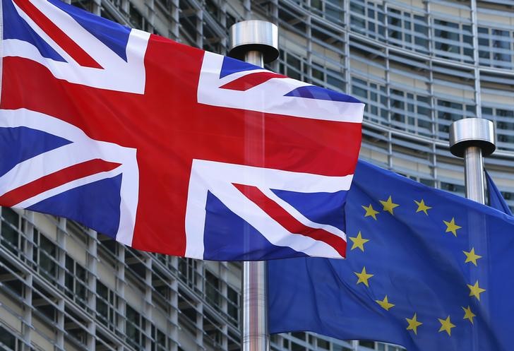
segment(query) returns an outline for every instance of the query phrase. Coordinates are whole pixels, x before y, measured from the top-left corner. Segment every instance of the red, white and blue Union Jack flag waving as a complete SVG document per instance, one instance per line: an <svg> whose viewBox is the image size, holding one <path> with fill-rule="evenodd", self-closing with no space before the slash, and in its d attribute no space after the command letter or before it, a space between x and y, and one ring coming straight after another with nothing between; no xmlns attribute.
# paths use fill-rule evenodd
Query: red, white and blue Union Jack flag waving
<svg viewBox="0 0 514 351"><path fill-rule="evenodd" d="M1 206L176 256L345 256L361 102L59 0L1 6Z"/></svg>

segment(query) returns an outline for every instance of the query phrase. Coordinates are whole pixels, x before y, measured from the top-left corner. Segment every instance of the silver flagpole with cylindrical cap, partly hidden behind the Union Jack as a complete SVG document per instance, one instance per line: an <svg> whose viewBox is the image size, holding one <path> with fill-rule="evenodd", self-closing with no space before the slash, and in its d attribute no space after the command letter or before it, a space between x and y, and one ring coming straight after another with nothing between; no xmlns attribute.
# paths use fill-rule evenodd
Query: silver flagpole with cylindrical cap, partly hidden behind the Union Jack
<svg viewBox="0 0 514 351"><path fill-rule="evenodd" d="M229 56L244 60L256 66L274 61L278 57L277 26L263 20L245 20L232 25L229 35ZM261 125L265 121L261 122ZM254 136L254 138L261 138ZM249 137L251 138L251 136ZM247 143L245 153L257 163L263 162L263 155L255 155L252 143ZM252 162L253 163L253 162ZM241 329L241 350L268 351L268 297L265 261L243 263L243 318Z"/></svg>

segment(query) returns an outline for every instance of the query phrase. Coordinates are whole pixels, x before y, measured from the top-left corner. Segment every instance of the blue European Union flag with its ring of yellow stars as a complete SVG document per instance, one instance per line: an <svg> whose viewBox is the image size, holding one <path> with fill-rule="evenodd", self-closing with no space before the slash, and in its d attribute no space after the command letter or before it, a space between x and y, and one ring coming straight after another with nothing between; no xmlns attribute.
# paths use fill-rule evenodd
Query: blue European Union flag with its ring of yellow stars
<svg viewBox="0 0 514 351"><path fill-rule="evenodd" d="M346 260L268 263L270 333L512 350L513 217L366 162L345 216Z"/></svg>

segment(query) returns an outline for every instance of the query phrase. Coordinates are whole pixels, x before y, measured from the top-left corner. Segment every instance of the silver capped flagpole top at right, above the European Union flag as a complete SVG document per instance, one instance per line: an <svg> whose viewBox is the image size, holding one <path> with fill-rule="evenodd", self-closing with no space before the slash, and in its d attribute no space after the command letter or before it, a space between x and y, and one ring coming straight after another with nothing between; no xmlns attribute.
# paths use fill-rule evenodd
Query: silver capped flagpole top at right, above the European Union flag
<svg viewBox="0 0 514 351"><path fill-rule="evenodd" d="M464 157L466 197L485 203L484 160L496 150L494 124L482 118L465 118L450 126L450 152Z"/></svg>

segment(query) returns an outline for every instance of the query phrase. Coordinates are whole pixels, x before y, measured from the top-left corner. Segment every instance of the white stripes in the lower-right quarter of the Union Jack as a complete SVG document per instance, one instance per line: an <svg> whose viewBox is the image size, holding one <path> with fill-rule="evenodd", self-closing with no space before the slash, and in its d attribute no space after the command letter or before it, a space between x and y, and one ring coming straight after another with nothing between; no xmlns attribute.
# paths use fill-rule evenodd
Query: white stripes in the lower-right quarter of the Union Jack
<svg viewBox="0 0 514 351"><path fill-rule="evenodd" d="M288 246L295 251L304 252L309 256L341 258L341 255L329 244L294 234L286 230L280 223L270 218L256 203L239 191L234 184L257 186L270 196L269 189L284 189L305 193L335 192L349 189L352 176L326 177L317 174L306 174L266 169L245 165L232 165L223 162L193 160L189 179L188 202L186 208L186 256L203 258L203 232L205 230L205 203L210 191L233 213L243 218L252 227L276 246ZM270 198L275 200L276 196ZM280 201L280 202L279 202ZM284 201L279 199L280 205ZM291 206L282 206L290 210ZM335 227L312 222L298 211L289 211L299 222L313 228L323 228L342 239L346 234ZM192 243L192 244L188 244Z"/></svg>

